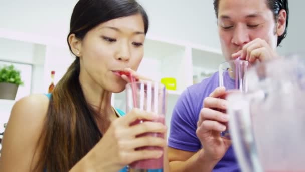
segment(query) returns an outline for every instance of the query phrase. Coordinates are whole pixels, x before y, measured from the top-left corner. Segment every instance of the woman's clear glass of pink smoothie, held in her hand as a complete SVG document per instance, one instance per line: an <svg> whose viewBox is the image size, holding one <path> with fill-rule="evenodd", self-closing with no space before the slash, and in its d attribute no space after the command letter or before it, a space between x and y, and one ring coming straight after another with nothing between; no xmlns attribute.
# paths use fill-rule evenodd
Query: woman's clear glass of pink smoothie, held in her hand
<svg viewBox="0 0 305 172"><path fill-rule="evenodd" d="M153 81L138 81L126 85L126 112L133 108L153 112L158 116L153 122L165 124L166 110L166 89L162 83ZM134 121L131 125L145 122L144 120ZM154 136L164 138L161 133L144 133L137 137ZM163 150L161 147L146 146L136 150ZM158 159L147 159L135 161L129 165L131 171L163 171L163 156Z"/></svg>

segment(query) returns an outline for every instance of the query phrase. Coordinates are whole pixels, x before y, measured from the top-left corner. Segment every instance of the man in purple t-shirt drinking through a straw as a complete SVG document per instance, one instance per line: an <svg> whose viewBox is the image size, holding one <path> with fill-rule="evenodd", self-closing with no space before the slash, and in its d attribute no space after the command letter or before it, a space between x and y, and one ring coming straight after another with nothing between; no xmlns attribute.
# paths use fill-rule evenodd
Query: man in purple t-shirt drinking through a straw
<svg viewBox="0 0 305 172"><path fill-rule="evenodd" d="M218 32L226 60L240 57L250 63L276 58L286 36L287 0L214 0ZM215 73L187 88L173 111L169 137L171 171L240 171L226 129L227 101L219 99Z"/></svg>

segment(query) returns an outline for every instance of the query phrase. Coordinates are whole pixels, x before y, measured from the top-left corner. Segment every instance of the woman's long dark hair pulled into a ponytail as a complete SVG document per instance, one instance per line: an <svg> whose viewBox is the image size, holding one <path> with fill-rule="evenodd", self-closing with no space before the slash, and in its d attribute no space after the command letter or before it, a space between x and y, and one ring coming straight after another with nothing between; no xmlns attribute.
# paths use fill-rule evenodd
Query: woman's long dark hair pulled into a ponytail
<svg viewBox="0 0 305 172"><path fill-rule="evenodd" d="M147 14L135 0L80 0L73 9L67 40L71 34L82 40L97 25L134 14L142 15L147 33ZM69 48L71 51L70 45ZM79 73L80 60L76 57L53 90L37 143L40 154L36 170L68 171L102 137L96 123L97 112L86 102Z"/></svg>

